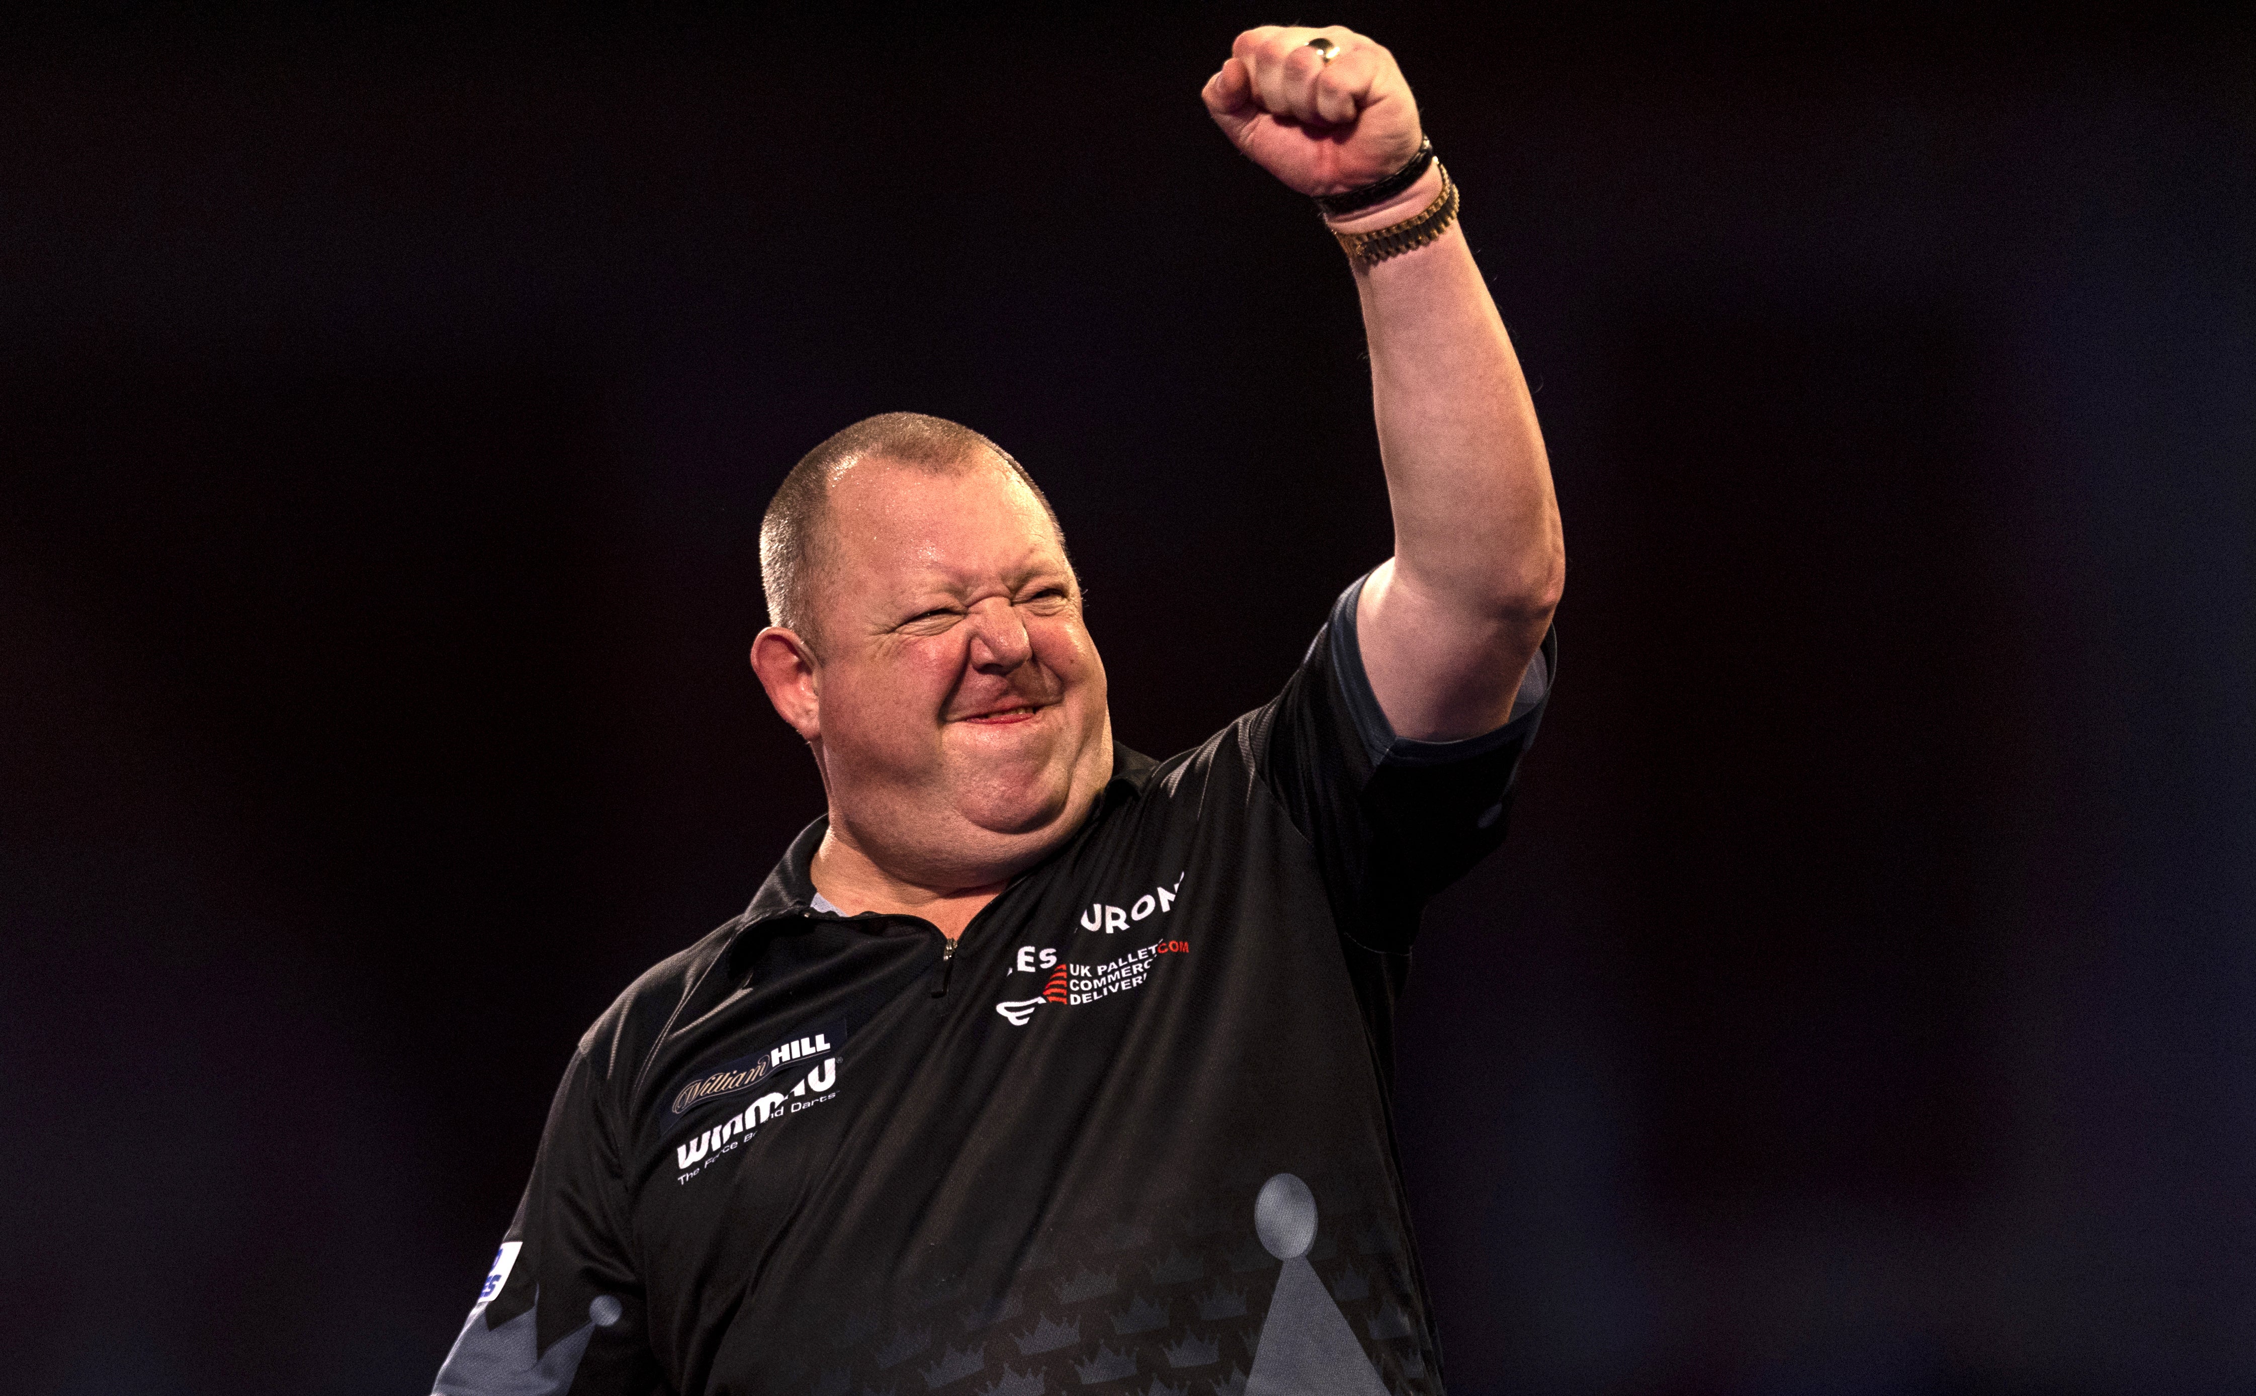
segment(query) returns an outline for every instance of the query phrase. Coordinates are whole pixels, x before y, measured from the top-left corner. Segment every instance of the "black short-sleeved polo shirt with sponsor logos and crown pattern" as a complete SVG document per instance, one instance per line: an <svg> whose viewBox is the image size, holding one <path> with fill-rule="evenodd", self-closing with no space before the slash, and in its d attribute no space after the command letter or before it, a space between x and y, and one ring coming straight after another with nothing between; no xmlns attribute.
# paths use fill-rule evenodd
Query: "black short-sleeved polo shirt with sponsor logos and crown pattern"
<svg viewBox="0 0 2256 1396"><path fill-rule="evenodd" d="M1399 740L1358 593L1275 701L1114 749L954 954L819 902L812 823L580 1042L438 1391L1439 1394L1392 1022L1557 647L1507 726Z"/></svg>

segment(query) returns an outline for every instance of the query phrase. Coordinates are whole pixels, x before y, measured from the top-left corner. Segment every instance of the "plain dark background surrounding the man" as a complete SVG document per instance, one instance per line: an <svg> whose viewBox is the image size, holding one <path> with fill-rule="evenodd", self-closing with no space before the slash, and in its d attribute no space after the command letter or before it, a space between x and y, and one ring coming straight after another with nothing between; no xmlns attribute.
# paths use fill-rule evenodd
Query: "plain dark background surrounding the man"
<svg viewBox="0 0 2256 1396"><path fill-rule="evenodd" d="M2256 1387L2247 34L1338 14L1572 557L1401 1046L1453 1387ZM7 1389L429 1389L578 1033L819 807L742 656L832 428L1036 469L1153 753L1385 555L1198 106L1270 16L835 16L9 38Z"/></svg>

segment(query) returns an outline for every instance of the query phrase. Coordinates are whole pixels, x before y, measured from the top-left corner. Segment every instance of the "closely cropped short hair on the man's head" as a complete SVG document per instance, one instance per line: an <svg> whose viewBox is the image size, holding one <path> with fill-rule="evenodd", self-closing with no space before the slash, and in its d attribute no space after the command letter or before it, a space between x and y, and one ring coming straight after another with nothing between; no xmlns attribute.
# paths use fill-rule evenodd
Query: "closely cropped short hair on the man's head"
<svg viewBox="0 0 2256 1396"><path fill-rule="evenodd" d="M1049 507L1049 496L1024 465L970 426L945 417L923 413L864 417L801 456L760 519L760 591L767 593L767 622L796 631L810 645L817 643L814 598L823 553L830 548L830 487L846 467L882 460L927 476L954 476L979 469L986 456L1017 476L1042 503L1049 525L1058 528L1058 512ZM1063 528L1058 544L1065 544Z"/></svg>

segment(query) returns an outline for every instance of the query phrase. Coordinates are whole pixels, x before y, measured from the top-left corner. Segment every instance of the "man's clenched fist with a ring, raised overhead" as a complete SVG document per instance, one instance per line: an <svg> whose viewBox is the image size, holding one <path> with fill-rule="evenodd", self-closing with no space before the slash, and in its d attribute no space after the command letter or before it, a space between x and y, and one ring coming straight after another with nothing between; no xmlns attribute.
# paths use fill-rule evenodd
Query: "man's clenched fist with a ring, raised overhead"
<svg viewBox="0 0 2256 1396"><path fill-rule="evenodd" d="M1311 38L1340 45L1338 56L1324 63ZM1345 194L1417 153L1417 101L1394 54L1338 25L1239 34L1202 97L1241 151L1302 194Z"/></svg>

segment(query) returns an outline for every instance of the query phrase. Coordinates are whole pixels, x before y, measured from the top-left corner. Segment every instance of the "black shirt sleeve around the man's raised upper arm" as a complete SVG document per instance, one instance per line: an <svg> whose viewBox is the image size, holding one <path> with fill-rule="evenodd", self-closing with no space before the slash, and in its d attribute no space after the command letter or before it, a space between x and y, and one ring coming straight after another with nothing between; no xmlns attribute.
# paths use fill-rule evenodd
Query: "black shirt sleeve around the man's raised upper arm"
<svg viewBox="0 0 2256 1396"><path fill-rule="evenodd" d="M1405 952L1426 900L1505 841L1521 758L1559 670L1557 631L1527 665L1512 717L1462 742L1396 737L1356 643L1358 577L1261 715L1261 778L1315 846L1340 934Z"/></svg>

